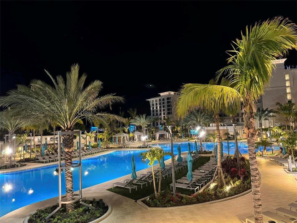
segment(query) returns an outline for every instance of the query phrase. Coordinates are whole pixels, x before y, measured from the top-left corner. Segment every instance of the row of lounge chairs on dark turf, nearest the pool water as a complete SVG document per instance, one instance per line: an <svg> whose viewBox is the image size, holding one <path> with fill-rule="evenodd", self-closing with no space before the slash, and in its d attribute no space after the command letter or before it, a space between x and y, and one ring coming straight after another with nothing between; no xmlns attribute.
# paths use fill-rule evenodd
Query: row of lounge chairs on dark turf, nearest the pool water
<svg viewBox="0 0 297 223"><path fill-rule="evenodd" d="M195 154L192 156L193 160L197 160L200 158L199 154ZM180 163L176 163L174 164L174 171L178 172L181 169L187 167L187 156L183 157L183 162ZM165 169L161 170L161 173L159 171L159 169L154 170L154 177L157 181L159 181L160 177L163 177L163 179L165 179L165 177L170 177L172 174L172 165L171 163L165 166ZM137 178L135 180L131 180L131 179L125 179L123 180L123 182L115 182L112 184L112 189L114 189L115 186L118 187L123 187L123 188L128 188L130 193L131 193L131 189L136 189L137 190L137 185L142 186L146 185L148 186L148 182L149 184L151 184L151 182L153 181L153 172L152 171L148 171L147 173L144 174L140 174L139 176L137 176Z"/></svg>

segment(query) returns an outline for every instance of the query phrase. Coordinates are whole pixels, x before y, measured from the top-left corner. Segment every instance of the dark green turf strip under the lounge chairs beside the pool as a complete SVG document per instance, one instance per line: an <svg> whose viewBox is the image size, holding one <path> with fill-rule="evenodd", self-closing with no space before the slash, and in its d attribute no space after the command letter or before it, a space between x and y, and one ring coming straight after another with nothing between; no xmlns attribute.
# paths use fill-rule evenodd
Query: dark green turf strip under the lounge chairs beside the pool
<svg viewBox="0 0 297 223"><path fill-rule="evenodd" d="M205 164L206 162L208 162L210 159L209 156L202 156L200 157L200 159L198 159L196 162L193 163L193 167L192 170L195 170L197 168L199 168L200 166L202 166L203 164ZM179 172L175 172L175 179L180 179L182 177L185 177L187 175L188 172L188 168L184 168L183 170L179 171ZM170 189L170 184L172 183L172 176L165 177L165 179L162 179L161 181L161 190L165 190L166 188ZM157 187L157 191L158 191L158 187L159 187L159 182L156 181L156 187ZM129 189L128 188L123 188L123 187L114 187L114 189L109 188L107 189L108 191L114 192L116 194L119 195L123 195L127 198L131 198L133 200L138 200L141 198L144 198L146 196L149 196L151 194L154 193L154 186L153 186L153 182L151 183L151 185L141 186L137 185L137 191L135 189L131 189L131 193L129 193ZM194 190L185 190L182 188L177 188L177 191L179 191L182 194L186 194L186 195L191 195L194 193Z"/></svg>

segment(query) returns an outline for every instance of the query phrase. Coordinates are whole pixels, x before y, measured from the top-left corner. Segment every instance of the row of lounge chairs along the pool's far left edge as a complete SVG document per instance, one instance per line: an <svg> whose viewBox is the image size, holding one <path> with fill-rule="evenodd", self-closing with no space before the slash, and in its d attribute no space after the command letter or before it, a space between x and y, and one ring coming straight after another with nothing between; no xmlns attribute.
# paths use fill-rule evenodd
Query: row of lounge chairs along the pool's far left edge
<svg viewBox="0 0 297 223"><path fill-rule="evenodd" d="M92 155L96 154L99 152L106 151L106 149L101 149L101 148L92 148L91 151L89 150L82 150L81 155L86 156L86 155ZM42 163L49 163L49 162L55 162L59 160L58 153L55 151L51 151L50 153L47 153L44 156L36 156L37 157L37 162L42 162ZM79 157L79 152L78 151L72 151L72 158ZM65 158L65 154L61 154L61 160Z"/></svg>

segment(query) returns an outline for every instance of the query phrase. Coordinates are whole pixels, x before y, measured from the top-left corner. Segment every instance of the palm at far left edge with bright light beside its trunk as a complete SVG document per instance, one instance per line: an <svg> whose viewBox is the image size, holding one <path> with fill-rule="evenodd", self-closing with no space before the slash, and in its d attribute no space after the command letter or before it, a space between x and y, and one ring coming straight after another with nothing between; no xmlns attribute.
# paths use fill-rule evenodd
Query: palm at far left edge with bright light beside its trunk
<svg viewBox="0 0 297 223"><path fill-rule="evenodd" d="M10 112L10 108L6 109L5 112ZM21 127L23 127L24 122L21 121L18 116L11 116L9 113L8 115L4 115L4 112L0 112L0 129L5 129L8 132L8 144L9 150L6 151L9 160L9 166L12 165L12 148L14 148L14 134L15 131ZM14 148L15 149L15 148Z"/></svg>

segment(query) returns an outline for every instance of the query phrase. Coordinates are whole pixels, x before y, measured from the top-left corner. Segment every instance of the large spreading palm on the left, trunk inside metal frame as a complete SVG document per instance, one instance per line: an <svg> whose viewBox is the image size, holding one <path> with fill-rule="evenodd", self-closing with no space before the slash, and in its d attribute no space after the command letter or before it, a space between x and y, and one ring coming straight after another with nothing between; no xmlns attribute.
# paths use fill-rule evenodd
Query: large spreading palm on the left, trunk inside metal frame
<svg viewBox="0 0 297 223"><path fill-rule="evenodd" d="M71 66L66 74L66 81L62 76L56 80L48 71L45 71L52 85L45 81L32 80L30 86L18 85L15 90L0 98L0 106L11 106L11 115L21 120L35 123L42 120L55 120L62 131L72 131L76 123L86 118L90 123L101 123L108 126L110 120L123 121L122 117L100 112L99 110L114 103L123 102L122 97L107 94L99 97L102 82L95 80L84 88L87 75L79 77L79 65ZM32 115L34 114L34 115ZM74 134L62 136L65 151L65 166L72 166ZM65 169L66 201L73 200L73 178L70 168ZM67 212L72 211L73 203L66 204Z"/></svg>

